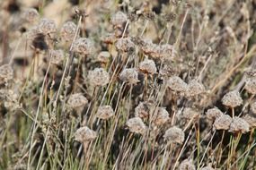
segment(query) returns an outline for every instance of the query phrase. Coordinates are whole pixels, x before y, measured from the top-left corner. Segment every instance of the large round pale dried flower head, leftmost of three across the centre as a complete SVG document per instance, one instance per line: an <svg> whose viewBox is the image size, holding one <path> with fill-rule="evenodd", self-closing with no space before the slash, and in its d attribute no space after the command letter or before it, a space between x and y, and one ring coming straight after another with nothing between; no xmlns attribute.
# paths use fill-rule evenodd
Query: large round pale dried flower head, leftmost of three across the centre
<svg viewBox="0 0 256 170"><path fill-rule="evenodd" d="M89 71L88 79L93 86L105 86L110 82L110 74L102 68L95 68Z"/></svg>

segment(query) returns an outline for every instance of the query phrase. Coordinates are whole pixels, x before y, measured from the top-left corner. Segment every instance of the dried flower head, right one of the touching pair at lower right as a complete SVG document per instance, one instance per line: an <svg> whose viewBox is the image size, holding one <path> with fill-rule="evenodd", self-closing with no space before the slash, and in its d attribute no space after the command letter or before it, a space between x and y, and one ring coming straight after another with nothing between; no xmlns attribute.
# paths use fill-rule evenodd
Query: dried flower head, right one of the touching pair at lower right
<svg viewBox="0 0 256 170"><path fill-rule="evenodd" d="M250 124L247 123L243 118L234 116L232 123L229 127L229 132L249 132L250 130Z"/></svg>

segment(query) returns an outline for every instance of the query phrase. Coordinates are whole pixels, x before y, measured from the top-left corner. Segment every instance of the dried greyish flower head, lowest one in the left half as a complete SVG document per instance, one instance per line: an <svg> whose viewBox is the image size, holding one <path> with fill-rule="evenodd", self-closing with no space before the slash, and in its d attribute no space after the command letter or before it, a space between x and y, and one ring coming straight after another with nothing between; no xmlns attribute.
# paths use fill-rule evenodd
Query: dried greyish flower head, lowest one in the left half
<svg viewBox="0 0 256 170"><path fill-rule="evenodd" d="M81 143L94 140L95 138L97 138L97 132L94 132L87 126L81 127L75 132L75 140Z"/></svg>

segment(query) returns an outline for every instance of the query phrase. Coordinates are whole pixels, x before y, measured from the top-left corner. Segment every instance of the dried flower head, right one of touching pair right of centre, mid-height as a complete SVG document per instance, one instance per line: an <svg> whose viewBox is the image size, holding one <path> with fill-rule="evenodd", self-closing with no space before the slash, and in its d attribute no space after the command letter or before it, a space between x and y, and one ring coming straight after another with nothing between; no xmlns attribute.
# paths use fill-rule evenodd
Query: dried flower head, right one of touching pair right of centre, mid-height
<svg viewBox="0 0 256 170"><path fill-rule="evenodd" d="M186 91L186 96L193 97L205 92L205 87L202 83L196 80L190 81L188 85L188 90Z"/></svg>

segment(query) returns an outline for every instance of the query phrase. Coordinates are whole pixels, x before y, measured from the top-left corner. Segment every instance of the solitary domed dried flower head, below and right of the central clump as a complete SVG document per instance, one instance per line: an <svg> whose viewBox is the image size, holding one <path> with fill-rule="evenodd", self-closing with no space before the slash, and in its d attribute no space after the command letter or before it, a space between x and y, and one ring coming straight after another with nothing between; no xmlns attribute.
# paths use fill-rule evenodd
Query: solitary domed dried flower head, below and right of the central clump
<svg viewBox="0 0 256 170"><path fill-rule="evenodd" d="M185 134L181 128L173 126L164 133L163 138L170 140L172 143L182 144L185 139Z"/></svg>

